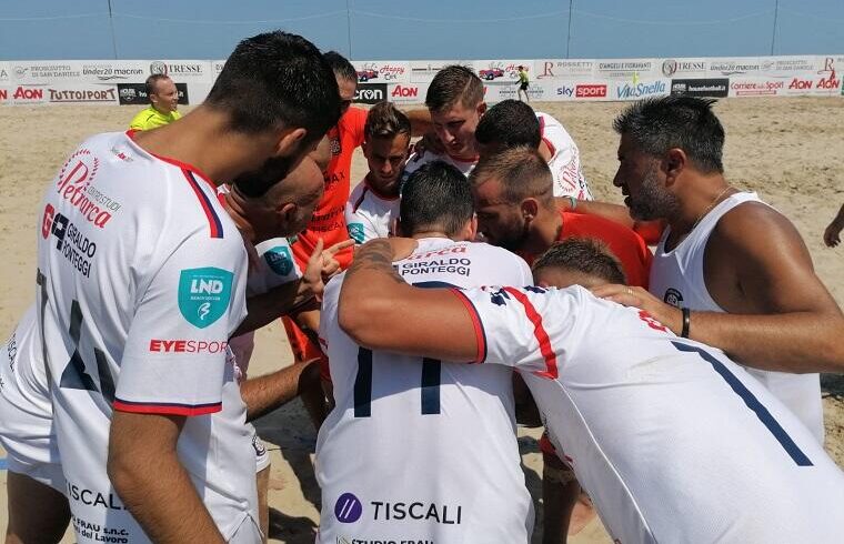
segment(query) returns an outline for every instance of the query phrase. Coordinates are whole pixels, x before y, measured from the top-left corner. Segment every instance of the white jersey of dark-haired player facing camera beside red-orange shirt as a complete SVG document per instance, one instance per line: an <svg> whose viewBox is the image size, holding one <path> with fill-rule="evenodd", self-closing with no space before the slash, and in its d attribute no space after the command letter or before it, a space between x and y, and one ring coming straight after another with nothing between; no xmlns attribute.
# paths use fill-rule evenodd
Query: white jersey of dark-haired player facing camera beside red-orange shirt
<svg viewBox="0 0 844 544"><path fill-rule="evenodd" d="M399 216L399 195L379 194L363 179L345 203L345 224L354 243L364 243L393 234L393 219Z"/></svg>

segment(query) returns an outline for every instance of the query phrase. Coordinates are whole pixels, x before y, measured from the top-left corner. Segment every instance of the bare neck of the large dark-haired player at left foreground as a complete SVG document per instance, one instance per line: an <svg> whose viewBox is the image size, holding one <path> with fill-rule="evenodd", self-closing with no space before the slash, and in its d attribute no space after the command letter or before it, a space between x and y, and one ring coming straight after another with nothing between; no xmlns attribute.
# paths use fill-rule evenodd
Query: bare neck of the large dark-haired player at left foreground
<svg viewBox="0 0 844 544"><path fill-rule="evenodd" d="M260 168L274 150L270 138L245 138L227 127L225 113L200 105L179 122L137 132L134 141L149 153L199 169L219 187Z"/></svg>

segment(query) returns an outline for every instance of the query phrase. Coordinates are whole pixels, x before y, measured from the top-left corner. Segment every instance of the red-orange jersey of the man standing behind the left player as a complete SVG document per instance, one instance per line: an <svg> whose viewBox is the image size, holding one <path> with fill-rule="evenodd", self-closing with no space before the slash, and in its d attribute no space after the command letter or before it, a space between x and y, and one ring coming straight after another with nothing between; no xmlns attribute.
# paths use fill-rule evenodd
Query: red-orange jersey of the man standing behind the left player
<svg viewBox="0 0 844 544"><path fill-rule="evenodd" d="M329 130L326 134L331 143L331 162L322 173L325 180L325 194L316 205L305 230L291 245L293 256L302 270L320 238L325 248L349 240L349 231L345 226L345 202L349 200L352 154L363 143L365 123L366 110L349 108L336 127ZM345 269L352 262L352 254L353 249L346 248L335 258Z"/></svg>

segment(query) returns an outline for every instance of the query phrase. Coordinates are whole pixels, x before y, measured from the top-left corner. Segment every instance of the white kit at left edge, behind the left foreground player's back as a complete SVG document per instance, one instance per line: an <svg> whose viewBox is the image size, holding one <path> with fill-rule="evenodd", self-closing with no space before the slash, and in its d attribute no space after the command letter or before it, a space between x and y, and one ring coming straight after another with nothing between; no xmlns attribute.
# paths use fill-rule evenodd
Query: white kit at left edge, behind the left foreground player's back
<svg viewBox="0 0 844 544"><path fill-rule="evenodd" d="M0 442L10 472L64 493L42 345L32 305L6 343L0 364Z"/></svg>

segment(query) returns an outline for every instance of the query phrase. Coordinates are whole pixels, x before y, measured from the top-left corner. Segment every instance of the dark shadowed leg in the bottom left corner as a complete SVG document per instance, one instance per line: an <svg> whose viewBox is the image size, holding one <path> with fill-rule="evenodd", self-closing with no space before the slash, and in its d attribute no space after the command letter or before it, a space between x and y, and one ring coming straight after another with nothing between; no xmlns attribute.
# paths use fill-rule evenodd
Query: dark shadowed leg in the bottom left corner
<svg viewBox="0 0 844 544"><path fill-rule="evenodd" d="M70 523L70 506L63 494L17 472L6 480L9 506L7 544L54 544Z"/></svg>

